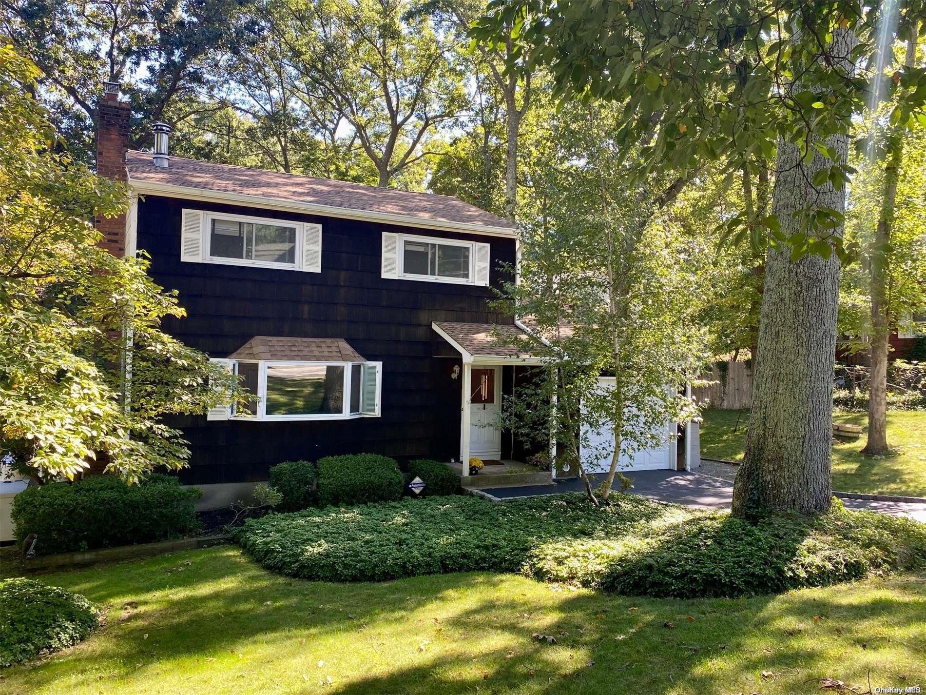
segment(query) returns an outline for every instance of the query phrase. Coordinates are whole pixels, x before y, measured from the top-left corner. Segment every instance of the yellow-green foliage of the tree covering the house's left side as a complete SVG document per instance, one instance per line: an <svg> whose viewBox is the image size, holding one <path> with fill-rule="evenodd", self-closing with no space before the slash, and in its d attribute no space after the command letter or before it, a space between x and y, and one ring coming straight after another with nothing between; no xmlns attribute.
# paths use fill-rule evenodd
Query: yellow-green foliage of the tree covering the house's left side
<svg viewBox="0 0 926 695"><path fill-rule="evenodd" d="M47 147L44 110L19 88L34 66L0 56L0 431L19 468L73 478L100 453L126 479L189 456L168 413L215 404L209 379L232 381L160 331L181 317L147 259L117 259L88 222L127 208L124 186ZM122 339L131 329L134 342ZM131 398L119 365L132 350ZM224 383L224 382L222 382ZM242 396L229 383L232 398Z"/></svg>

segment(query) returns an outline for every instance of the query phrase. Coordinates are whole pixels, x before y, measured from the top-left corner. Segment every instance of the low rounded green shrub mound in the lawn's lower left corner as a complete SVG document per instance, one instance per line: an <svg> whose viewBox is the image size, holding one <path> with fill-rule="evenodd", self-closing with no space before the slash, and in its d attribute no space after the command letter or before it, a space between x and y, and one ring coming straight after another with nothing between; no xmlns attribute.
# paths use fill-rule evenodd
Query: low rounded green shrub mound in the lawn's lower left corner
<svg viewBox="0 0 926 695"><path fill-rule="evenodd" d="M34 579L0 581L0 667L76 644L99 616L81 594Z"/></svg>

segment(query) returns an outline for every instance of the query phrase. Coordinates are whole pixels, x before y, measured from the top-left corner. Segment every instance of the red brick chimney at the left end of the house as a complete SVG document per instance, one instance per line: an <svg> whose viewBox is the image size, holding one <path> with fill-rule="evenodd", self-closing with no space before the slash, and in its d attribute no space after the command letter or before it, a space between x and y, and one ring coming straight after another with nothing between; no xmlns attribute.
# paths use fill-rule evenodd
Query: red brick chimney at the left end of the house
<svg viewBox="0 0 926 695"><path fill-rule="evenodd" d="M129 149L131 108L128 102L119 101L118 82L103 84L104 98L96 108L96 173L126 183L129 173L125 168L125 153ZM94 224L103 233L100 246L113 256L125 256L125 215L98 217Z"/></svg>

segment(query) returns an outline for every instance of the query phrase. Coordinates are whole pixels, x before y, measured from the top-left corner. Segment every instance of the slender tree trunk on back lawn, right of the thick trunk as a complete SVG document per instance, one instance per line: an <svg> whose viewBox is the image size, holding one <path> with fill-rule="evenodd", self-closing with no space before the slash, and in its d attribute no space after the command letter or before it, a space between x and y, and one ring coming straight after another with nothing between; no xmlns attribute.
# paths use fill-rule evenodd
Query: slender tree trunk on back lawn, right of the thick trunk
<svg viewBox="0 0 926 695"><path fill-rule="evenodd" d="M883 456L887 453L887 352L891 332L887 297L888 254L894 202L900 171L901 143L890 140L890 154L884 167L884 197L870 257L871 288L871 356L869 374L869 431L862 453Z"/></svg>

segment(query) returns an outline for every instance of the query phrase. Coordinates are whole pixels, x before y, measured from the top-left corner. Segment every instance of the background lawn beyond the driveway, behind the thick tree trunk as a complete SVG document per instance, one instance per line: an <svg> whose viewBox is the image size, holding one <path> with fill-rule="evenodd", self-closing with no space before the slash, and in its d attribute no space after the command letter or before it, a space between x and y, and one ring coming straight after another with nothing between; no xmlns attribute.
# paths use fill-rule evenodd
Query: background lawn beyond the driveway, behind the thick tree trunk
<svg viewBox="0 0 926 695"><path fill-rule="evenodd" d="M737 415L740 423L733 432ZM868 413L837 411L832 417L836 423L865 427L855 441L833 442L833 489L926 497L926 411L888 411L887 442L895 453L883 459L859 453L865 446ZM701 455L707 459L742 460L748 426L749 411L705 411Z"/></svg>

